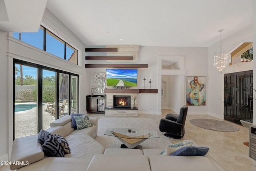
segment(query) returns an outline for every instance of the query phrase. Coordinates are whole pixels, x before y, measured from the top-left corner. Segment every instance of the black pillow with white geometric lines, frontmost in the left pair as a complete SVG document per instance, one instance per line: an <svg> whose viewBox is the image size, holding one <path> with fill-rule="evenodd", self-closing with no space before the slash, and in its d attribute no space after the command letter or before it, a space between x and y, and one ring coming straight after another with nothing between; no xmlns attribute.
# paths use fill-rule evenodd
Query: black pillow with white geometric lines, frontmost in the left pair
<svg viewBox="0 0 256 171"><path fill-rule="evenodd" d="M64 157L64 151L60 145L60 141L47 131L45 131L42 149L44 155L47 157Z"/></svg>

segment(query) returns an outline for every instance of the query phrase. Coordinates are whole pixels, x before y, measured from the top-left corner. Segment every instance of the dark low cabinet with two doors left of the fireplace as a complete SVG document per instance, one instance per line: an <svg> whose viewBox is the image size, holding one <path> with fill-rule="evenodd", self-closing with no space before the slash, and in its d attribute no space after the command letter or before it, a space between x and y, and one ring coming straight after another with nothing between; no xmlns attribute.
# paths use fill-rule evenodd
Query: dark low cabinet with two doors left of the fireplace
<svg viewBox="0 0 256 171"><path fill-rule="evenodd" d="M86 95L87 113L105 113L106 97L103 95Z"/></svg>

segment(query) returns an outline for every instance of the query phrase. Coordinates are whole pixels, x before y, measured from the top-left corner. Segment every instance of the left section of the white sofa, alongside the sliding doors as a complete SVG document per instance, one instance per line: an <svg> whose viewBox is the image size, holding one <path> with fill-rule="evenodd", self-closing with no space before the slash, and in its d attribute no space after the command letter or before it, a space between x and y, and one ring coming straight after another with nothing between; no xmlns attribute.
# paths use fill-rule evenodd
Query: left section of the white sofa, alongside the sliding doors
<svg viewBox="0 0 256 171"><path fill-rule="evenodd" d="M12 145L11 163L20 161L20 165L10 165L10 169L18 169L18 171L86 170L92 157L103 154L105 150L94 139L97 136L98 119L90 117L90 122L92 127L80 130L71 127L70 115L50 123L51 127L46 131L61 135L68 141L71 153L65 154L65 157L45 157L42 145L38 143L38 135L15 139Z"/></svg>

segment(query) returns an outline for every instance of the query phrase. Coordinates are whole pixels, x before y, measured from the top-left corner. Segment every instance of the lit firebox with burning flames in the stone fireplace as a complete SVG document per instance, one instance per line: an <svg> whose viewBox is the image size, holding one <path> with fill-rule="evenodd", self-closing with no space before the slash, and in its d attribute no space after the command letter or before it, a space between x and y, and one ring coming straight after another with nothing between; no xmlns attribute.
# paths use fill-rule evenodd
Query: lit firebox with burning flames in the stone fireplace
<svg viewBox="0 0 256 171"><path fill-rule="evenodd" d="M113 99L114 108L131 108L130 95L114 95Z"/></svg>

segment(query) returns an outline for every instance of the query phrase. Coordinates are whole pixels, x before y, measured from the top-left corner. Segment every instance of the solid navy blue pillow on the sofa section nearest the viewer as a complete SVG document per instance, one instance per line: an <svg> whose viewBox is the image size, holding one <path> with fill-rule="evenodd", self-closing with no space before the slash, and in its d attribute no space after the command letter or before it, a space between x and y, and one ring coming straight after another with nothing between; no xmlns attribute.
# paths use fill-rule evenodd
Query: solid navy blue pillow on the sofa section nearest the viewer
<svg viewBox="0 0 256 171"><path fill-rule="evenodd" d="M208 152L208 147L194 147L194 146L187 146L178 149L177 151L171 153L170 155L176 156L204 156Z"/></svg>

